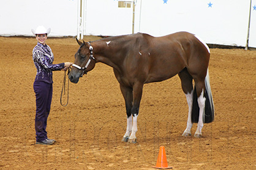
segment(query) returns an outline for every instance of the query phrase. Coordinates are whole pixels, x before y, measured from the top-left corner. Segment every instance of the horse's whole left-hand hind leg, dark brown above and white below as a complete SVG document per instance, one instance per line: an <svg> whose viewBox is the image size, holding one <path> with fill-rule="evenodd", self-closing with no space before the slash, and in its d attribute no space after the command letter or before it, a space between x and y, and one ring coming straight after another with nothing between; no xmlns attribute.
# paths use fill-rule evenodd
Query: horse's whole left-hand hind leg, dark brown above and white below
<svg viewBox="0 0 256 170"><path fill-rule="evenodd" d="M187 105L189 105L189 115L187 117L187 128L183 132L183 136L191 136L191 128L192 128L192 103L193 103L193 84L192 84L192 76L187 72L187 68L184 68L181 72L179 72L179 78L181 79L181 87L183 89L184 94L187 98Z"/></svg>

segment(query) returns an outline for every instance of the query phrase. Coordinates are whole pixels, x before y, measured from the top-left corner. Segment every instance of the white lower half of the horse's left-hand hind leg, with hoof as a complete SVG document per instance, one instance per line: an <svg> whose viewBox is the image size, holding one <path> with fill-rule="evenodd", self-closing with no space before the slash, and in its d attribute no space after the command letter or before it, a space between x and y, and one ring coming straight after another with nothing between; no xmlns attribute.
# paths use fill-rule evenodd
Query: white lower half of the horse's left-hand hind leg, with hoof
<svg viewBox="0 0 256 170"><path fill-rule="evenodd" d="M186 98L187 98L187 105L189 105L189 116L187 117L187 128L183 132L183 136L190 136L191 135L191 128L192 128L192 121L191 121L191 113L192 113L192 104L193 104L193 92L187 93Z"/></svg>

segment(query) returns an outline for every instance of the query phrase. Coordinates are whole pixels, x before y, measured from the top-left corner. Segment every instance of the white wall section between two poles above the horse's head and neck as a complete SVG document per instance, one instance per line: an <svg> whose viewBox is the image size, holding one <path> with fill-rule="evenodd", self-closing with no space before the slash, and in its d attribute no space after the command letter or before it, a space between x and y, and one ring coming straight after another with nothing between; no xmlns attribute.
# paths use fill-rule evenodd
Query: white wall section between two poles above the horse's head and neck
<svg viewBox="0 0 256 170"><path fill-rule="evenodd" d="M132 7L119 8L115 0L85 1L85 35L132 34Z"/></svg>

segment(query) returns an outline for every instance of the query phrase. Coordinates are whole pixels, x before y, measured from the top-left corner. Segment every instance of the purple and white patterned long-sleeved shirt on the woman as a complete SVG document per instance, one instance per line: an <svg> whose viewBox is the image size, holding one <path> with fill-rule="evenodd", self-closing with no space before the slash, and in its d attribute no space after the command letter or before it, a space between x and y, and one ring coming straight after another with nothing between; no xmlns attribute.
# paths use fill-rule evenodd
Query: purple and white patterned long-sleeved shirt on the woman
<svg viewBox="0 0 256 170"><path fill-rule="evenodd" d="M37 42L37 45L33 49L32 57L37 68L35 81L53 83L53 71L64 68L64 62L61 64L53 64L53 53L48 45L42 45Z"/></svg>

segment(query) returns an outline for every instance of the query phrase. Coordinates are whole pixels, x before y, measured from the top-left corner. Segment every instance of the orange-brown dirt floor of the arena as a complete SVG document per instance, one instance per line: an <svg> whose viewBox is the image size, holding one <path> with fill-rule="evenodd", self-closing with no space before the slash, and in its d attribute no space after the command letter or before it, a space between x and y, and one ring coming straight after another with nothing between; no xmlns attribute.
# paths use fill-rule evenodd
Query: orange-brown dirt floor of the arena
<svg viewBox="0 0 256 170"><path fill-rule="evenodd" d="M47 44L55 64L74 61L74 38ZM57 142L42 146L34 130L35 45L34 37L0 37L0 169L153 169L160 146L177 170L256 169L256 51L211 49L216 119L205 124L200 139L181 136L188 107L178 76L145 85L137 144L129 144L121 142L126 109L111 67L98 63L78 84L70 83L66 107L59 102L64 72L54 72L47 131Z"/></svg>

